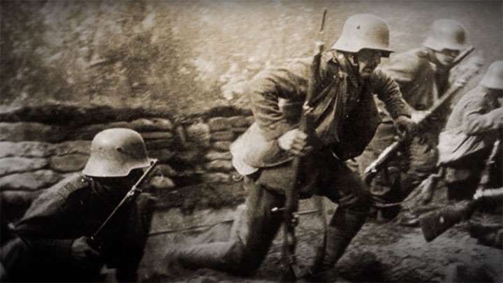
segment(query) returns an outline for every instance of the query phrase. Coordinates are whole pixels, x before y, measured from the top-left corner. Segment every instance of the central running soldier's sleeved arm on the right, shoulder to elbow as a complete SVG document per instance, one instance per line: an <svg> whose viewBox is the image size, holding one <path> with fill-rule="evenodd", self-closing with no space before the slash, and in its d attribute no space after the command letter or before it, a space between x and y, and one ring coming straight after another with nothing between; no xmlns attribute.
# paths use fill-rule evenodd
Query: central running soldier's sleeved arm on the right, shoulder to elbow
<svg viewBox="0 0 503 283"><path fill-rule="evenodd" d="M371 81L374 92L384 102L386 110L393 119L401 115L411 117L410 106L404 101L397 82L381 70L372 73Z"/></svg>

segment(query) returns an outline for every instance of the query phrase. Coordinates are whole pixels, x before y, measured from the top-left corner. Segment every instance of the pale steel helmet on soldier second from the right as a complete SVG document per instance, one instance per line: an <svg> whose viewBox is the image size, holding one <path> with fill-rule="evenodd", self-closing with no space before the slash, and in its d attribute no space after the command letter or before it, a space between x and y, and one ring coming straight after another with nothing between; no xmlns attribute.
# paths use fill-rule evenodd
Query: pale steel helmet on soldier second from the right
<svg viewBox="0 0 503 283"><path fill-rule="evenodd" d="M466 48L466 37L465 27L459 22L436 20L423 45L438 52L444 49L463 50Z"/></svg>

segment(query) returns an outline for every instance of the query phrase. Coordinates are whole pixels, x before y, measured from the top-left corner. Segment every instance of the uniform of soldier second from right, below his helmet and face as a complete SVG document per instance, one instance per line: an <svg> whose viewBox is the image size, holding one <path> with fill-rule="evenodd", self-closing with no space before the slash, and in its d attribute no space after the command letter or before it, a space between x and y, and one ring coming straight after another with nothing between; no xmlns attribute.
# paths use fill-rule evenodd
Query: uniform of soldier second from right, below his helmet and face
<svg viewBox="0 0 503 283"><path fill-rule="evenodd" d="M440 68L432 62L432 54L417 48L393 55L383 64L382 71L398 82L402 96L411 110L427 110L449 87L449 69ZM379 154L399 139L395 126L382 103L378 101L382 124L358 157L360 173L379 157ZM439 111L442 112L442 111ZM379 173L372 183L372 194L378 202L396 202L407 196L432 170L437 163L437 135L445 124L447 115L435 117L428 131L414 138L402 158L393 160L388 174ZM407 172L404 174L404 172ZM390 192L391 191L391 192Z"/></svg>

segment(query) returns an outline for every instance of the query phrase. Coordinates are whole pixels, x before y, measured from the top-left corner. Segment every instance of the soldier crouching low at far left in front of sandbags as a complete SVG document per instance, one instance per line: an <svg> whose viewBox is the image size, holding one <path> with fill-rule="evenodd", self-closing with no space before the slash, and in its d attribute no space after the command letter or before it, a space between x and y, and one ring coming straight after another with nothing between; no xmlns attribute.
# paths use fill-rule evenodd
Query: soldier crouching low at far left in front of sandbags
<svg viewBox="0 0 503 283"><path fill-rule="evenodd" d="M44 191L12 228L1 249L1 281L89 282L101 268L117 268L117 280L136 281L150 228L152 197L140 194L118 210L96 246L91 236L150 166L145 143L130 129L96 134L81 175Z"/></svg>

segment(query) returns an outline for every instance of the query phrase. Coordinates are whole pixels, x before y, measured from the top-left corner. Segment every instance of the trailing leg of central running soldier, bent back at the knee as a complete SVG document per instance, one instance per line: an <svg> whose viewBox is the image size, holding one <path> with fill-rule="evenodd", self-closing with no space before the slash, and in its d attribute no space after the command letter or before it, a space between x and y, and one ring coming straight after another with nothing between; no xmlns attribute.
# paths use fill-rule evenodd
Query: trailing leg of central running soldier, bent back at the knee
<svg viewBox="0 0 503 283"><path fill-rule="evenodd" d="M271 210L284 205L284 197L258 186L250 177L245 177L244 186L247 227L243 238L182 249L178 253L182 266L214 268L235 275L250 275L258 269L283 219L282 213Z"/></svg>

